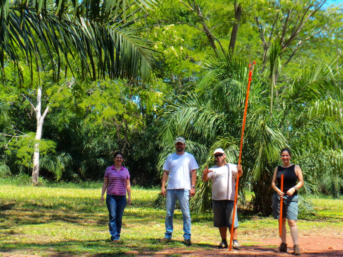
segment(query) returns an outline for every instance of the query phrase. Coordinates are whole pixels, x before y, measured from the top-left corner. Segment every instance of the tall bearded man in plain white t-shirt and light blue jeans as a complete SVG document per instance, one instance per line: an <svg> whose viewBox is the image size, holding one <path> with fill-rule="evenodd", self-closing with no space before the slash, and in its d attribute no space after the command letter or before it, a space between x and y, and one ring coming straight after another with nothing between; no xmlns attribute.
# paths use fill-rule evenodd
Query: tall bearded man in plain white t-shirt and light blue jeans
<svg viewBox="0 0 343 257"><path fill-rule="evenodd" d="M184 238L186 245L191 242L191 216L189 214L189 198L195 195L198 164L193 155L185 152L186 142L182 137L175 140L176 152L167 157L163 166L161 195L166 199L166 232L159 243L171 240L173 235L173 217L178 200L184 218ZM169 176L169 178L168 178ZM168 179L167 190L165 188Z"/></svg>

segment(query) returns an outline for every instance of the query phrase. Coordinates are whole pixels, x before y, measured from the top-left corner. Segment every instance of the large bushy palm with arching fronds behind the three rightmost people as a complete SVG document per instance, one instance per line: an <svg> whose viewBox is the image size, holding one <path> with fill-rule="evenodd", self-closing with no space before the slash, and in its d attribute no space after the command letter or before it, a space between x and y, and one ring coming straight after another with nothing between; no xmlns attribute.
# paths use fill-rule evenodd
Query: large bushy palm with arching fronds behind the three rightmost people
<svg viewBox="0 0 343 257"><path fill-rule="evenodd" d="M272 116L270 83L258 76L253 78L242 156L245 172L240 183L252 184L255 212L271 213L271 179L279 163L279 151L287 145L294 150L293 161L304 166L305 174L308 167L322 164L322 169L335 167L335 176L342 176L343 123L338 122L343 114L339 98L343 82L340 68L313 65L280 83ZM199 176L204 164L213 164L211 153L217 147L225 150L227 161L237 163L247 72L243 60L214 57L208 62L196 93L175 97L175 101L161 110L157 124L161 128L158 142L162 148L159 167L173 151L170 146L176 136L188 139L188 151L201 164ZM326 160L329 155L331 160ZM203 211L211 205L210 187L198 180L197 188L191 206Z"/></svg>

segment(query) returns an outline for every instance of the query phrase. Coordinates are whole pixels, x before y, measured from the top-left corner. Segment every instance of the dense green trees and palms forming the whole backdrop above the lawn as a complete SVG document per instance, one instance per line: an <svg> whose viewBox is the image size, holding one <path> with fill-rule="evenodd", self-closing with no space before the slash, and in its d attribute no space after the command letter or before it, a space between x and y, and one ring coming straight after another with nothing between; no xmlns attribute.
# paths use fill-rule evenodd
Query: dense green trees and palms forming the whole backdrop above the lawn
<svg viewBox="0 0 343 257"><path fill-rule="evenodd" d="M40 176L99 181L120 150L131 183L159 185L177 136L198 175L217 147L236 163L256 60L242 203L249 187L255 212L270 214L285 146L303 169L303 194L338 197L343 12L325 2L1 1L0 176L31 174L38 149ZM38 106L46 116L37 139ZM197 188L191 206L205 211L210 185Z"/></svg>

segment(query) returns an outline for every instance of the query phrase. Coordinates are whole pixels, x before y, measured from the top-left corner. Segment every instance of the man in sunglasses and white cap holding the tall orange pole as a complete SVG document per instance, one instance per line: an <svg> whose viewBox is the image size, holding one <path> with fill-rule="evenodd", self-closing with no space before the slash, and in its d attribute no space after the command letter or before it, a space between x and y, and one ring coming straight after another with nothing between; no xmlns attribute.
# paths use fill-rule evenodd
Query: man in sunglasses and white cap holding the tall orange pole
<svg viewBox="0 0 343 257"><path fill-rule="evenodd" d="M227 228L231 228L232 214L235 200L235 178L237 173L239 177L243 175L242 166L226 163L226 155L222 148L214 150L214 158L217 164L210 170L207 168L203 171L201 179L209 181L212 179L212 207L213 207L213 225L219 228L222 242L218 248L227 248ZM241 247L237 241L238 233L237 212L234 221L233 248L240 250Z"/></svg>

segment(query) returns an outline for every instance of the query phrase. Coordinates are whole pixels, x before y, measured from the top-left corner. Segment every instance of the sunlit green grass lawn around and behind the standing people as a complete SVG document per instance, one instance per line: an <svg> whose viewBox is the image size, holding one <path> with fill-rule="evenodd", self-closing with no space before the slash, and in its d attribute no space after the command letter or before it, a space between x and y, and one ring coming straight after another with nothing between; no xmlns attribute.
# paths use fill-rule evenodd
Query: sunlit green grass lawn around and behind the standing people
<svg viewBox="0 0 343 257"><path fill-rule="evenodd" d="M220 240L213 227L212 214L192 216L191 247L182 241L182 215L176 210L173 241L157 243L164 236L164 209L152 206L159 188L132 187L132 205L123 217L122 244L112 244L108 233L106 205L99 203L101 183L43 183L35 187L25 179L0 179L0 255L1 253L134 256L136 253L177 247L207 249ZM20 183L21 182L21 183ZM342 200L312 199L316 216L299 220L299 230L316 228L342 230ZM271 217L240 216L239 238L254 245L259 236L277 236L277 221ZM253 236L252 236L252 235ZM254 238L251 240L251 238ZM169 255L178 256L178 255Z"/></svg>

